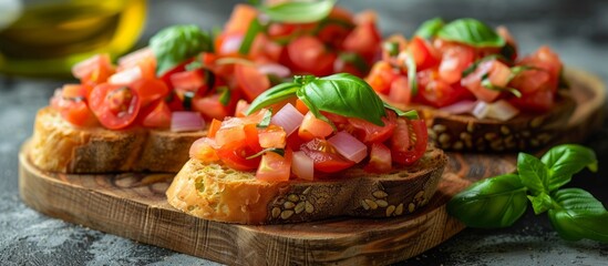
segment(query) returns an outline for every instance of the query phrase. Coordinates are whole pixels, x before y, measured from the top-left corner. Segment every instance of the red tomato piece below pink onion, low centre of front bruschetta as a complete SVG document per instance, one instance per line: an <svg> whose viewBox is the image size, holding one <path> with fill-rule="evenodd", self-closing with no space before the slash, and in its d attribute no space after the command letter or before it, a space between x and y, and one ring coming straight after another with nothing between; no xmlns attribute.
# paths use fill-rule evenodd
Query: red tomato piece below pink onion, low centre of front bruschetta
<svg viewBox="0 0 608 266"><path fill-rule="evenodd" d="M336 173L354 165L354 162L344 158L324 140L313 139L303 143L300 151L312 158L315 170L319 172Z"/></svg>

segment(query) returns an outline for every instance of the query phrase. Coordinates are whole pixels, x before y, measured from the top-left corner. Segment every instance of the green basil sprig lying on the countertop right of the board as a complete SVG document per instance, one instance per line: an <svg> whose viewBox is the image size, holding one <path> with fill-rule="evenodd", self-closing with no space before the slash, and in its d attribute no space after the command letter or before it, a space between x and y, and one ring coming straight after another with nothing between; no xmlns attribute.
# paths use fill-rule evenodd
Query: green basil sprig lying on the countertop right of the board
<svg viewBox="0 0 608 266"><path fill-rule="evenodd" d="M564 144L537 158L526 153L517 157L517 173L472 184L447 203L447 212L467 226L498 228L516 222L526 211L547 212L553 227L568 241L589 238L608 243L608 211L601 202L580 188L560 188L575 173L597 171L592 150Z"/></svg>

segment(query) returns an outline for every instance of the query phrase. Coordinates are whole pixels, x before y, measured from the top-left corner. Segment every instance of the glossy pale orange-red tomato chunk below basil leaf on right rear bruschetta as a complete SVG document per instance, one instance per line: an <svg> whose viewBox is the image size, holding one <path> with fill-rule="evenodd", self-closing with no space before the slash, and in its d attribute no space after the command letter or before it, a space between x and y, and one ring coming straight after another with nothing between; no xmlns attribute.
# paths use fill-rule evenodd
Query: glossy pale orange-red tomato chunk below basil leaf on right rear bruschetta
<svg viewBox="0 0 608 266"><path fill-rule="evenodd" d="M443 50L439 74L449 84L458 82L462 72L473 63L475 50L467 45L450 45Z"/></svg>

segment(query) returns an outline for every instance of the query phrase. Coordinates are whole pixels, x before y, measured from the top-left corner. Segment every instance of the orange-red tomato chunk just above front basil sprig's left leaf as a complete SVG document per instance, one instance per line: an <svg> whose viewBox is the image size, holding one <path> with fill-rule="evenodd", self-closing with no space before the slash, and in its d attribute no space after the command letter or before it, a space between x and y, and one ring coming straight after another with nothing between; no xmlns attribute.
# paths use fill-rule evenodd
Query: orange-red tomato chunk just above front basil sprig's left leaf
<svg viewBox="0 0 608 266"><path fill-rule="evenodd" d="M235 75L239 88L249 102L270 88L268 75L259 72L254 65L236 64Z"/></svg>

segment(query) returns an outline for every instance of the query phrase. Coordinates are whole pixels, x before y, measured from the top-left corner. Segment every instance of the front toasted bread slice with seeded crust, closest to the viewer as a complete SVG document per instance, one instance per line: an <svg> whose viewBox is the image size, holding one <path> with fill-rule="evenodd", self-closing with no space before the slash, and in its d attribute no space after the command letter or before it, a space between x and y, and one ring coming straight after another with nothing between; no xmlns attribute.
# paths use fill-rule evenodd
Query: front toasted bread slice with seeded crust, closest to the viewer
<svg viewBox="0 0 608 266"><path fill-rule="evenodd" d="M255 172L190 158L166 192L190 215L238 224L282 224L337 216L392 217L414 212L433 196L447 156L429 147L411 166L388 174L360 167L322 180L264 182Z"/></svg>

